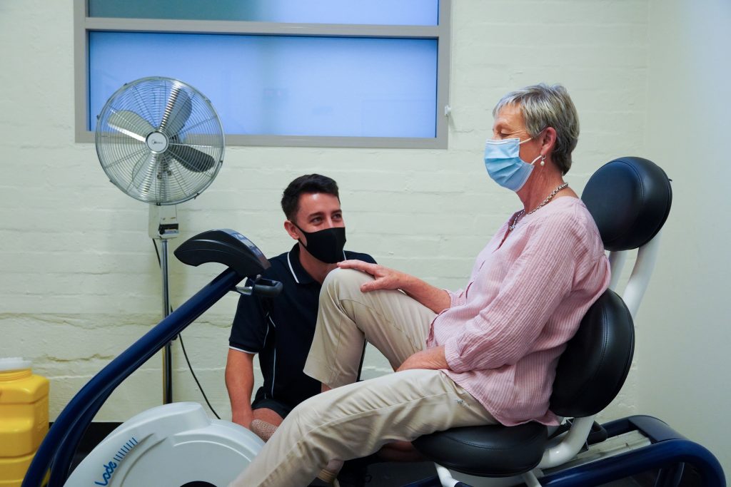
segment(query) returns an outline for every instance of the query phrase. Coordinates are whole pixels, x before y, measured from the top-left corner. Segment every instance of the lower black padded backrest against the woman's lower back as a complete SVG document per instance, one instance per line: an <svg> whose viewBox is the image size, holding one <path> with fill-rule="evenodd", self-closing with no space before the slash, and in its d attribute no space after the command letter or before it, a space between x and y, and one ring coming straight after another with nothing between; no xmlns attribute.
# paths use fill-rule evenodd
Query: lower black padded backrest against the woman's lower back
<svg viewBox="0 0 731 487"><path fill-rule="evenodd" d="M550 410L567 418L599 413L619 393L634 353L632 315L607 289L586 312L558 360Z"/></svg>

